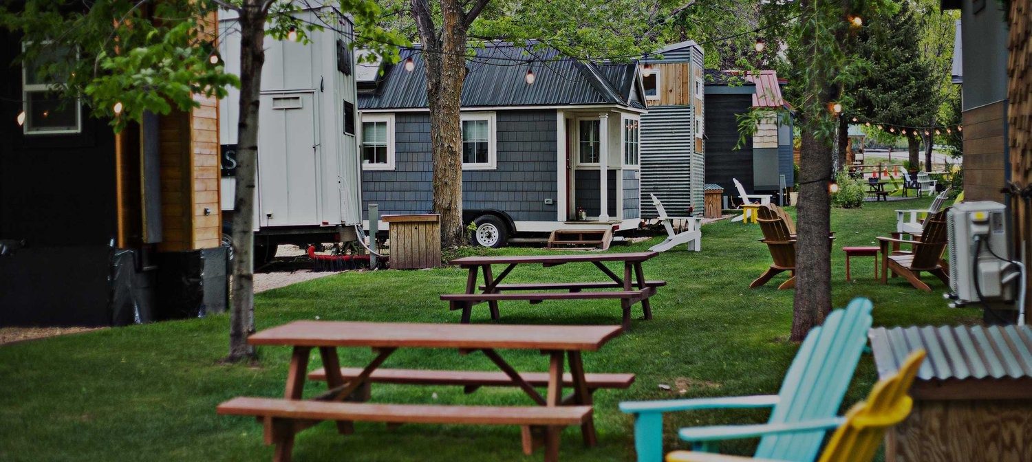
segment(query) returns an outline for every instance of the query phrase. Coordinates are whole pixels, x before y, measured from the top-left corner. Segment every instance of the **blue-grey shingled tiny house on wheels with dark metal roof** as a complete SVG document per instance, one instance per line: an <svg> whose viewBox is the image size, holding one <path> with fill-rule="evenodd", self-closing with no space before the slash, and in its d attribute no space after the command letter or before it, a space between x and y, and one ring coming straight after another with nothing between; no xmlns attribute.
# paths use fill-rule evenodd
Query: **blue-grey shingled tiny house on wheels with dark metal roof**
<svg viewBox="0 0 1032 462"><path fill-rule="evenodd" d="M477 50L466 68L462 208L463 221L478 227L477 243L639 226L646 110L637 63L582 62L554 50L492 43ZM363 209L369 203L384 214L432 208L424 72L418 47L401 50L397 65L359 66Z"/></svg>

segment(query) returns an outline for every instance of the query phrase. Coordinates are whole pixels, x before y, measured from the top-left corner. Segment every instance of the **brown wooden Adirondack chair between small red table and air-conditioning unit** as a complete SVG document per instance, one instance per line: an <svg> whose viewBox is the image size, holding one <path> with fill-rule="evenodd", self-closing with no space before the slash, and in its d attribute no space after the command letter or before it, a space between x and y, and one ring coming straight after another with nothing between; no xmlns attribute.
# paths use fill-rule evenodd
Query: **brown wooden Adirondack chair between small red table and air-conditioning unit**
<svg viewBox="0 0 1032 462"><path fill-rule="evenodd" d="M921 280L920 274L924 271L934 274L947 287L949 286L949 274L945 262L942 261L942 254L946 251L948 243L946 235L946 211L948 210L949 207L946 207L925 220L925 229L920 240L878 237L883 255L886 255L890 244L908 243L912 249L911 252L894 252L888 256L886 270L881 274L881 284L888 282L888 274L892 271L893 274L907 279L915 289L932 292L932 288Z"/></svg>

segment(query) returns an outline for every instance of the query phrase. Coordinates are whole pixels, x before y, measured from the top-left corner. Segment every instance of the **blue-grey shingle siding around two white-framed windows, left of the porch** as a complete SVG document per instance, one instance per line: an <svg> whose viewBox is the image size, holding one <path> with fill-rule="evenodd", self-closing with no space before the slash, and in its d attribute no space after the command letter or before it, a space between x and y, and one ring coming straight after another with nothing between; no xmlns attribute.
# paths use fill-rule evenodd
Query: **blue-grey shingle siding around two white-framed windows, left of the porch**
<svg viewBox="0 0 1032 462"><path fill-rule="evenodd" d="M498 111L495 122L497 168L462 172L462 207L494 208L516 221L554 221L555 111ZM394 124L395 169L362 172L363 220L369 203L383 214L433 208L429 116L397 112Z"/></svg>

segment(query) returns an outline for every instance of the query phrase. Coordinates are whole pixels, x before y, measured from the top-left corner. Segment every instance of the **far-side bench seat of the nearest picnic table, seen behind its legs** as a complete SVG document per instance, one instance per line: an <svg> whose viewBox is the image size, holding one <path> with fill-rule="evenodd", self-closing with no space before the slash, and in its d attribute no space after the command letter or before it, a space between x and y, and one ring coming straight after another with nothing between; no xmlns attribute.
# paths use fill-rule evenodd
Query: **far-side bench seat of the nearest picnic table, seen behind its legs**
<svg viewBox="0 0 1032 462"><path fill-rule="evenodd" d="M343 367L341 374L345 381L357 377L362 369ZM524 381L535 387L548 385L547 372L520 372ZM326 370L318 369L309 372L313 381L325 381ZM635 382L633 373L587 373L584 380L589 389L613 388L627 389ZM456 385L463 387L514 387L512 378L502 371L480 370L427 370L427 369L377 369L369 375L369 381L382 384L401 385ZM562 374L562 385L572 387L573 376Z"/></svg>

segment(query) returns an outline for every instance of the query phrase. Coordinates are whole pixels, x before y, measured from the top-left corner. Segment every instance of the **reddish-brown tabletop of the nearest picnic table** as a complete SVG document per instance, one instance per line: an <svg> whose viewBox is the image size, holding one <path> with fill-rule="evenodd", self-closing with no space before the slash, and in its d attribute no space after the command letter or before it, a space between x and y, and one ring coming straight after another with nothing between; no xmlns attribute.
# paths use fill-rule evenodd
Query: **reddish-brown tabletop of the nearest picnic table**
<svg viewBox="0 0 1032 462"><path fill-rule="evenodd" d="M620 326L294 321L255 333L248 342L294 346L595 351L620 331Z"/></svg>

